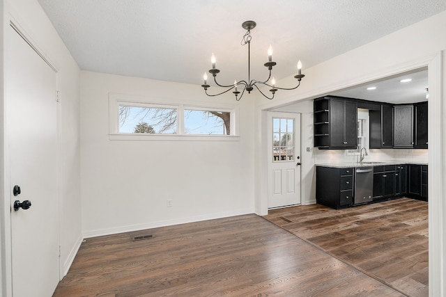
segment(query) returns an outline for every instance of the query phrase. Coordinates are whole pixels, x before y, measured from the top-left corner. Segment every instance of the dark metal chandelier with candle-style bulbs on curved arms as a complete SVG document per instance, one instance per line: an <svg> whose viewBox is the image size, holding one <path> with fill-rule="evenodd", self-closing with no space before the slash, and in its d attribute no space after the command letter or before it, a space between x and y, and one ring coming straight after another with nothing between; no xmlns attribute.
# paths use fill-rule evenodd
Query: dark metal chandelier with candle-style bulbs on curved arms
<svg viewBox="0 0 446 297"><path fill-rule="evenodd" d="M212 63L212 69L209 70L209 73L212 74L212 76L214 77L215 84L217 84L217 86L220 86L222 88L226 88L226 90L222 91L221 93L217 93L217 94L209 94L208 88L210 88L210 86L207 84L208 75L206 74L206 72L204 72L204 75L203 75L204 83L201 85L201 87L203 87L206 95L213 97L213 96L222 95L224 93L229 92L230 90L233 90L232 93L234 95L236 95L236 100L238 101L238 100L242 99L243 94L245 93L245 90L250 94L251 91L254 90L254 88L256 88L257 90L259 90L261 95L263 95L263 97L272 99L272 98L274 98L274 95L277 90L294 90L300 86L300 81L302 80L303 77L305 77L305 75L301 73L302 63L300 63L300 60L298 62L298 74L296 74L294 76L294 78L298 80L298 85L295 86L294 88L279 88L275 85L274 77L272 77L272 79L271 79L271 72L272 72L272 67L275 66L277 63L272 61L272 47L271 46L268 49L268 62L264 64L265 67L268 67L268 70L270 72L268 75L268 79L266 79L265 81L256 81L255 79L251 79L251 52L250 52L249 45L251 44L251 30L254 29L255 27L256 27L256 22L254 22L254 21L246 21L246 22L243 22L243 24L242 24L242 28L247 30L245 35L243 35L242 41L240 42L241 45L248 45L248 79L247 79L247 81L234 81L234 83L231 85L222 85L220 83L217 83L217 74L220 73L220 70L215 68L216 59L215 59L214 54L212 54L212 57L210 58L211 63ZM271 81L270 81L270 79L271 79ZM264 85L264 86L270 87L271 88L270 92L272 93L271 97L268 97L268 95L263 93L258 85ZM242 87L241 92L239 90L240 86ZM238 97L239 95L240 95L240 97Z"/></svg>

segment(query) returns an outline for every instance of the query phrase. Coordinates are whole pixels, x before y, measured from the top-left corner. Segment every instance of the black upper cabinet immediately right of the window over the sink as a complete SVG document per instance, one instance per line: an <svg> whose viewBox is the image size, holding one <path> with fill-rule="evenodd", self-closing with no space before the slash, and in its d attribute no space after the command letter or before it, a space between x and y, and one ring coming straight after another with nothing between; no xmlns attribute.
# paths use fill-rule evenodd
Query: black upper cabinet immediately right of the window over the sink
<svg viewBox="0 0 446 297"><path fill-rule="evenodd" d="M393 148L393 106L381 104L379 111L369 111L370 141L369 147Z"/></svg>

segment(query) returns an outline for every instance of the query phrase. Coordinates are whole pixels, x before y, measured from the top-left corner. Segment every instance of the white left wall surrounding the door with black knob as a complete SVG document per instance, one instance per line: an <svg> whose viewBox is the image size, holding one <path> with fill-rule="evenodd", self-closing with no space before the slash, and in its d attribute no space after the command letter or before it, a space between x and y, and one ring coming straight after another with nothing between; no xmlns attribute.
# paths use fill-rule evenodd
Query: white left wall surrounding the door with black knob
<svg viewBox="0 0 446 297"><path fill-rule="evenodd" d="M80 207L80 138L79 138L79 67L54 30L51 22L36 0L8 0L5 3L3 30L9 29L10 19L18 24L38 50L43 53L58 70L59 90L61 90L60 128L61 128L61 269L66 272L82 239ZM2 34L2 42L4 40ZM3 52L3 47L1 47ZM2 55L3 56L3 55ZM3 70L3 65L2 65ZM24 70L26 71L26 70ZM3 72L3 71L2 71ZM6 76L8 73L5 74ZM3 84L3 79L2 79ZM3 93L1 93L2 106ZM8 98L6 98L8 100ZM0 109L3 111L3 109ZM3 122L3 113L0 115ZM3 126L1 126L3 131ZM3 135L3 133L2 133ZM7 139L5 140L7 143ZM3 157L3 150L0 150ZM6 156L8 158L8 156ZM0 163L3 172L3 163ZM4 172L5 181L1 205L1 216L8 225L0 225L6 232L1 248L10 249L10 184L8 172ZM3 181L1 181L3 182ZM3 184L2 184L3 186ZM10 250L2 255L3 295L10 296Z"/></svg>

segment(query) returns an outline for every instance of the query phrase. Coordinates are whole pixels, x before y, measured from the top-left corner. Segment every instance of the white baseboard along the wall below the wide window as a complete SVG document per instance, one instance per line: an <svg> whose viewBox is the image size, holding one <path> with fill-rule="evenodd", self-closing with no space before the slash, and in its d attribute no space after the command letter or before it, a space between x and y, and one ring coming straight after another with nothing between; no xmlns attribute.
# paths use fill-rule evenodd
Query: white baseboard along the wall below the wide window
<svg viewBox="0 0 446 297"><path fill-rule="evenodd" d="M152 229L152 228L157 228L157 227L166 227L166 226L171 226L171 225L194 223L194 222L199 222L201 220L214 220L216 218L227 218L230 216L240 216L243 214L252 214L252 213L253 213L252 209L249 209L249 210L240 209L238 211L226 211L226 212L210 214L210 215L206 214L203 216L192 216L192 217L178 218L178 219L172 219L172 220L159 220L159 221L155 221L155 222L136 224L136 225L126 225L126 226L122 226L122 227L112 227L112 228L105 228L105 229L98 229L98 230L87 230L87 231L84 231L84 239L91 238L91 237L97 237L97 236L118 234L118 233L123 233L123 232L146 230L146 229Z"/></svg>

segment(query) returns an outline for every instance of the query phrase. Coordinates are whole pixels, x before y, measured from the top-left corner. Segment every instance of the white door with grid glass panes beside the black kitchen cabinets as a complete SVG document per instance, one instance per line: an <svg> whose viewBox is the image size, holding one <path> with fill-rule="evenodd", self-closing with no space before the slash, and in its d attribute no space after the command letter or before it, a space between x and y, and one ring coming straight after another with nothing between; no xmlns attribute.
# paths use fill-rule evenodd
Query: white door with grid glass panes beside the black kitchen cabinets
<svg viewBox="0 0 446 297"><path fill-rule="evenodd" d="M300 204L300 113L268 112L268 208Z"/></svg>

